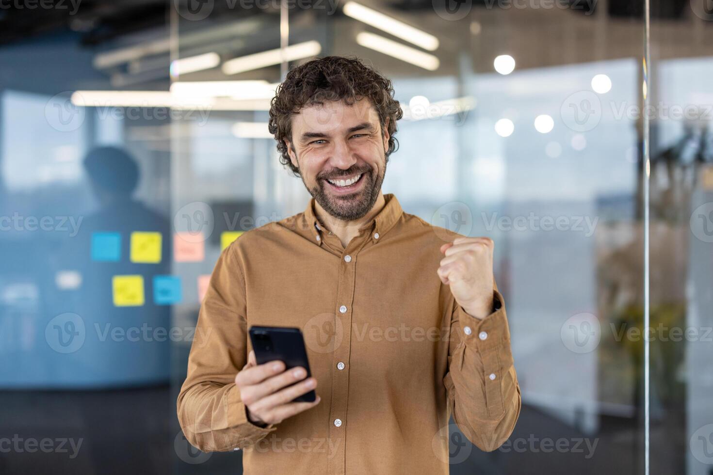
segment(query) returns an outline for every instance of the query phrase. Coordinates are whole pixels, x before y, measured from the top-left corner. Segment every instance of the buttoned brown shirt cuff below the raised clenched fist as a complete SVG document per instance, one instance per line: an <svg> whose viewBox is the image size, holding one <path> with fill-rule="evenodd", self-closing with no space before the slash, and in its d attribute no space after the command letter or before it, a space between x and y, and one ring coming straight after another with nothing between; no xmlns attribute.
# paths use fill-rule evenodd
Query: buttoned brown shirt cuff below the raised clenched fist
<svg viewBox="0 0 713 475"><path fill-rule="evenodd" d="M493 290L493 312L483 318L476 318L456 307L456 318L461 326L461 338L466 345L483 352L509 342L510 329L505 311L505 301L500 292Z"/></svg>

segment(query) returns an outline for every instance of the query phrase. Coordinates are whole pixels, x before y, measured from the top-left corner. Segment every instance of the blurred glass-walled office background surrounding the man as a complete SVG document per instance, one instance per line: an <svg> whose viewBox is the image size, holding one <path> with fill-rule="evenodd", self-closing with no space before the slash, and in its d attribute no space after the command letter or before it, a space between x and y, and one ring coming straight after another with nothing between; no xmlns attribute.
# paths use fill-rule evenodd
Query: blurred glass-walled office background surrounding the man
<svg viewBox="0 0 713 475"><path fill-rule="evenodd" d="M309 198L275 85L336 54L404 108L384 192L496 241L523 409L451 473L713 474L713 9L647 3L3 4L0 473L241 473L175 400L221 249Z"/></svg>

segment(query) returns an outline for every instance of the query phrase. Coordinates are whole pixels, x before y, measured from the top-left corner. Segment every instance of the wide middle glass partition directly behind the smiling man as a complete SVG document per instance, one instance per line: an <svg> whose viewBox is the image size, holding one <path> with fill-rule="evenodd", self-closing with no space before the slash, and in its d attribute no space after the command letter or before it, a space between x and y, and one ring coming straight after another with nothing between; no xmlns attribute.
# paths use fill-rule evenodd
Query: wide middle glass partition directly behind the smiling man
<svg viewBox="0 0 713 475"><path fill-rule="evenodd" d="M193 283L231 233L304 209L309 194L267 130L269 90L314 56L359 57L391 78L404 110L384 193L496 242L523 409L492 453L451 424L451 473L643 473L643 347L617 338L644 308L644 128L629 113L644 105L643 3L538 5L184 5L174 65L210 53L221 62L173 76L172 90L212 101L205 125L173 125L180 231L212 216L206 262L177 268ZM212 39L198 48L201 35ZM198 301L185 310L180 325L195 323ZM175 350L178 394L189 345ZM227 471L239 458L210 454L190 470Z"/></svg>

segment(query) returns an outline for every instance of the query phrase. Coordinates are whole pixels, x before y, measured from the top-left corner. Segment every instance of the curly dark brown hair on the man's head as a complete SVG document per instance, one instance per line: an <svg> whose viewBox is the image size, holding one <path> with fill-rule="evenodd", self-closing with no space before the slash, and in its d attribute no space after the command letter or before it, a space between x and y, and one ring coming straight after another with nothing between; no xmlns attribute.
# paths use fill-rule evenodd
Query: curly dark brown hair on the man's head
<svg viewBox="0 0 713 475"><path fill-rule="evenodd" d="M369 99L376 109L381 130L386 125L389 131L389 148L386 150L386 157L389 157L399 145L394 137L396 121L404 115L399 101L394 99L391 80L360 59L344 56L317 58L289 71L270 103L268 129L277 140L279 162L299 177L299 169L289 160L284 143L287 139L292 144L292 115L299 113L305 105L323 104L326 100L342 100L352 105L362 98Z"/></svg>

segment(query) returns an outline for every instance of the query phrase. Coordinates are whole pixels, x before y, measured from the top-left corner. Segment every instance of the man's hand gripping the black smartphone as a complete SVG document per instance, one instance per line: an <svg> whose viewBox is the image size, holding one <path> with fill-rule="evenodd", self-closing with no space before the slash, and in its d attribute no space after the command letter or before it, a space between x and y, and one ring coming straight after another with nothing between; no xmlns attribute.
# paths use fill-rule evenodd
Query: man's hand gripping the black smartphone
<svg viewBox="0 0 713 475"><path fill-rule="evenodd" d="M314 377L304 379L307 371L303 367L284 369L284 362L279 360L258 365L255 352L251 351L247 355L247 364L235 376L240 400L253 424L279 424L319 404L319 396L314 402L292 402L295 397L314 390L317 380Z"/></svg>

